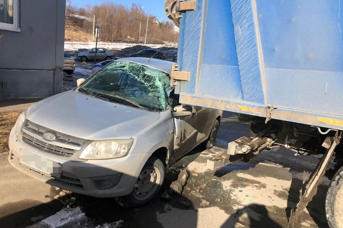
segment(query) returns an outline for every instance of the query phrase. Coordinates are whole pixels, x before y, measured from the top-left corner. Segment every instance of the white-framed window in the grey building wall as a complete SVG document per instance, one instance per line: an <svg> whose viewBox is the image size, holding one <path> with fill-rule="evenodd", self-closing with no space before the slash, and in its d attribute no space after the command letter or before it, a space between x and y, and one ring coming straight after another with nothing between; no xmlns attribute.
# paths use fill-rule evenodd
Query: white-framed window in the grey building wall
<svg viewBox="0 0 343 228"><path fill-rule="evenodd" d="M20 32L19 0L0 0L0 29Z"/></svg>

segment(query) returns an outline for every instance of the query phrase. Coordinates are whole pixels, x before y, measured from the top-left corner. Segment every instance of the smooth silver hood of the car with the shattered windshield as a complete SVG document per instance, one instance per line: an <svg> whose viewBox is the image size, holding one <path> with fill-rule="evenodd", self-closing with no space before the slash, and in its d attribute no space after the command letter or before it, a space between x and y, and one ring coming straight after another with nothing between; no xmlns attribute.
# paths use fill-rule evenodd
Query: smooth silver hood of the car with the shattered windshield
<svg viewBox="0 0 343 228"><path fill-rule="evenodd" d="M26 115L46 128L88 140L131 138L159 117L159 112L107 102L73 90L41 100Z"/></svg>

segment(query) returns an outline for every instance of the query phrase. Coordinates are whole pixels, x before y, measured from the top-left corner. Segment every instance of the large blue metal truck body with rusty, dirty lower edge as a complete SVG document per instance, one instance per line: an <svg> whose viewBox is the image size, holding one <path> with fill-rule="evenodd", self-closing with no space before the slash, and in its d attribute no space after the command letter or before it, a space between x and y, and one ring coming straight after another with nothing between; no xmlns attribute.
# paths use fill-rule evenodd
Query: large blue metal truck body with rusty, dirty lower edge
<svg viewBox="0 0 343 228"><path fill-rule="evenodd" d="M342 5L197 0L180 21L181 102L343 130Z"/></svg>

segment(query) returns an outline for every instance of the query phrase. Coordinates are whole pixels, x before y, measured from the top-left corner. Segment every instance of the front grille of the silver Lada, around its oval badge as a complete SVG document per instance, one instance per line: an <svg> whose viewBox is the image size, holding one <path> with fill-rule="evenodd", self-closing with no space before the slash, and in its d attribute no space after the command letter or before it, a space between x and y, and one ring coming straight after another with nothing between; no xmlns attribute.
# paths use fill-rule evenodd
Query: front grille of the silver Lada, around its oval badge
<svg viewBox="0 0 343 228"><path fill-rule="evenodd" d="M83 149L88 142L86 139L56 132L31 121L25 123L22 131L25 143L64 157L72 156L76 151ZM56 134L56 139L47 141L43 136L45 132L53 132Z"/></svg>

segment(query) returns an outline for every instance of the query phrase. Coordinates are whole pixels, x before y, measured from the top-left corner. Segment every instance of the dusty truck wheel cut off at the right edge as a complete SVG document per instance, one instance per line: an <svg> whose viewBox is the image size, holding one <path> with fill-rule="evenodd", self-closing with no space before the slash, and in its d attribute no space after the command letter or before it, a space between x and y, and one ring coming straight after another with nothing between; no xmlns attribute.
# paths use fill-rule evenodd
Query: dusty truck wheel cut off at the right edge
<svg viewBox="0 0 343 228"><path fill-rule="evenodd" d="M331 228L343 227L343 166L333 176L325 202L326 217Z"/></svg>

